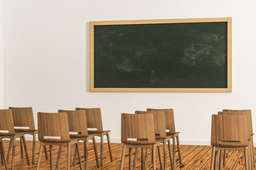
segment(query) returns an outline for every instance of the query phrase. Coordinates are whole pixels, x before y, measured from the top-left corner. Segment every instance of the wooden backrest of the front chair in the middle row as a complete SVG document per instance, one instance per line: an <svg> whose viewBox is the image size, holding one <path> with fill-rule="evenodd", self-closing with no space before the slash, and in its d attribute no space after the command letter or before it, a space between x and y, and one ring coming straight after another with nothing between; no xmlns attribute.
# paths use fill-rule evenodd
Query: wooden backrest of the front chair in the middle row
<svg viewBox="0 0 256 170"><path fill-rule="evenodd" d="M156 143L152 114L122 113L121 140L124 144L151 145Z"/></svg>

